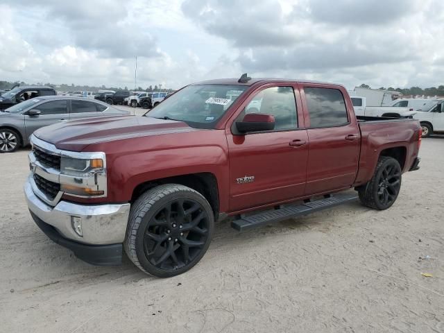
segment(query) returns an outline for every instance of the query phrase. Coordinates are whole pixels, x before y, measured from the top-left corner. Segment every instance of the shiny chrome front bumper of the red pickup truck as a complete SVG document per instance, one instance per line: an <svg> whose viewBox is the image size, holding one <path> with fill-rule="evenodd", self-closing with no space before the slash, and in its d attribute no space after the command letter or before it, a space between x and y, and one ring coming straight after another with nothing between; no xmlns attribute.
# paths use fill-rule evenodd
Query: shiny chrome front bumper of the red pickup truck
<svg viewBox="0 0 444 333"><path fill-rule="evenodd" d="M123 243L130 213L130 204L82 205L61 200L55 207L38 198L32 176L26 180L24 191L29 210L39 219L52 225L67 239L83 244L101 245ZM83 237L71 226L71 216L80 217Z"/></svg>

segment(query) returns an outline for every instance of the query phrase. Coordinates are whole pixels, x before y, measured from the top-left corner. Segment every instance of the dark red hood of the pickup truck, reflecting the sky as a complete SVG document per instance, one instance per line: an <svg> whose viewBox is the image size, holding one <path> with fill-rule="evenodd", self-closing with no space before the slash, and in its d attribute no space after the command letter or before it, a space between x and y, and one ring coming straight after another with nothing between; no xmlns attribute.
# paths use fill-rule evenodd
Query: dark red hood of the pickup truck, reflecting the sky
<svg viewBox="0 0 444 333"><path fill-rule="evenodd" d="M194 130L182 121L113 116L56 123L36 130L34 135L58 149L83 151L89 144Z"/></svg>

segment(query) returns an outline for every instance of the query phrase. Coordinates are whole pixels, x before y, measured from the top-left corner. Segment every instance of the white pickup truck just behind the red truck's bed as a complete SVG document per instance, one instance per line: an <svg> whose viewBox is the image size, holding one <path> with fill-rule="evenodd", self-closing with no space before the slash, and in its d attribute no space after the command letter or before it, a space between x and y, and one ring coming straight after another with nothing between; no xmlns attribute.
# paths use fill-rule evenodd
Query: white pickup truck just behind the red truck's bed
<svg viewBox="0 0 444 333"><path fill-rule="evenodd" d="M350 96L357 116L412 118L416 111L413 108L395 106L366 106L366 98Z"/></svg>

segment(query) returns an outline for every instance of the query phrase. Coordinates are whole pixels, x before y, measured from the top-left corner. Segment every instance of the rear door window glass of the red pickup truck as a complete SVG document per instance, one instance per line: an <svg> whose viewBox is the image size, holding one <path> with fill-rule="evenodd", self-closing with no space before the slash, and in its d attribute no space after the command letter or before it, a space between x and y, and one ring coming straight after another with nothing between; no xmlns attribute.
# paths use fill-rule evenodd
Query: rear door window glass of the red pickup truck
<svg viewBox="0 0 444 333"><path fill-rule="evenodd" d="M348 123L347 108L339 89L305 87L310 128L341 126Z"/></svg>

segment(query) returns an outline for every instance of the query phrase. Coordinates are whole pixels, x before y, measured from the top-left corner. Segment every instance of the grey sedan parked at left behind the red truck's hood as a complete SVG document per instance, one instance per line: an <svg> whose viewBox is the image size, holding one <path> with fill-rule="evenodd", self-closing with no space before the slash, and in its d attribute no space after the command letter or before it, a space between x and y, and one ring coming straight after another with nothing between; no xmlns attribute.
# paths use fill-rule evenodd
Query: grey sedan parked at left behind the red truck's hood
<svg viewBox="0 0 444 333"><path fill-rule="evenodd" d="M128 115L100 102L76 96L42 96L0 112L0 153L12 153L29 144L29 137L43 126L80 118Z"/></svg>

